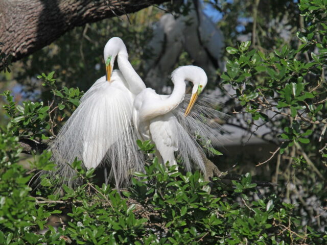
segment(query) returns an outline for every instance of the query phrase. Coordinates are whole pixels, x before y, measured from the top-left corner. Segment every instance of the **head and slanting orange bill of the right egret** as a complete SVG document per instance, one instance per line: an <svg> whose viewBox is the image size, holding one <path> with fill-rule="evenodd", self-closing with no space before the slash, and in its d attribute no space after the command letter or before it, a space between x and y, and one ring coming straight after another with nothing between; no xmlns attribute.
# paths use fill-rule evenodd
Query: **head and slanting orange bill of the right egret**
<svg viewBox="0 0 327 245"><path fill-rule="evenodd" d="M189 80L193 83L191 100L184 114L184 116L188 116L198 99L198 96L205 88L208 78L204 70L198 66L188 65L184 67L187 67L187 76L185 77L185 80Z"/></svg>

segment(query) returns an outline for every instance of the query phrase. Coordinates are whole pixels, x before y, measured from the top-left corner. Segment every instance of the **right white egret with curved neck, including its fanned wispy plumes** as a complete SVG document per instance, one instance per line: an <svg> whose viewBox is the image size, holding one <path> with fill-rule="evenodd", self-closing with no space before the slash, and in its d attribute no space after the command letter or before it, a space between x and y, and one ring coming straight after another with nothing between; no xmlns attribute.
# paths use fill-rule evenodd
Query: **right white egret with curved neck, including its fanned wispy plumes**
<svg viewBox="0 0 327 245"><path fill-rule="evenodd" d="M185 80L194 84L194 97L207 83L205 72L200 67L177 68L172 73L174 89L171 95L159 95L147 88L136 96L134 122L139 137L152 140L164 162L176 164L176 152L186 170L197 167L205 173L201 144L212 147L219 143L221 127L216 119L224 114L215 110L219 103L214 97L200 96L189 116L185 117L191 97L184 96Z"/></svg>

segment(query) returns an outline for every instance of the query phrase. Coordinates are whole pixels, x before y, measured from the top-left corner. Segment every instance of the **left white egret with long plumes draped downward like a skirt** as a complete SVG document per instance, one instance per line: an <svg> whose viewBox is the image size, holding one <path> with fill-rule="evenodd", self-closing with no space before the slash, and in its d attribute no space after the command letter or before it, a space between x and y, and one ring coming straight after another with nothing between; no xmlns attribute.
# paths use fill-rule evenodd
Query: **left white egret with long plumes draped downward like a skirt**
<svg viewBox="0 0 327 245"><path fill-rule="evenodd" d="M120 70L113 70L116 57ZM106 76L83 95L79 107L50 146L52 160L57 164L56 174L70 185L75 173L67 163L75 157L87 169L110 164L109 177L114 177L118 186L129 180L131 169L139 171L143 167L131 119L134 98L146 88L145 84L129 63L122 39L113 37L107 42L104 60Z"/></svg>

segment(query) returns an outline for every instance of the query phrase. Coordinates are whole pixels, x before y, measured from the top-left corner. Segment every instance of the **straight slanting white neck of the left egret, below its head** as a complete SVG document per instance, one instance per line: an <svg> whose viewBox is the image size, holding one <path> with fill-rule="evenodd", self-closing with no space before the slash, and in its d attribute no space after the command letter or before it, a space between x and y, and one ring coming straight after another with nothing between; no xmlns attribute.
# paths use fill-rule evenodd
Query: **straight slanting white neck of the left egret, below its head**
<svg viewBox="0 0 327 245"><path fill-rule="evenodd" d="M137 95L139 92L146 88L144 82L138 76L126 56L118 54L118 67L126 79L130 91L133 94Z"/></svg>

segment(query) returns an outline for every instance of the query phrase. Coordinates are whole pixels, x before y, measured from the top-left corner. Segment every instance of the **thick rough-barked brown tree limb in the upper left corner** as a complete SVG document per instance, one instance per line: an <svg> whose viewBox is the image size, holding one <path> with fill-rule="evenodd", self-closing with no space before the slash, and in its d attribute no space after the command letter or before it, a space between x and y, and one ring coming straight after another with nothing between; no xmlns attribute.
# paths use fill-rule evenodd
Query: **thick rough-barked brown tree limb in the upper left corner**
<svg viewBox="0 0 327 245"><path fill-rule="evenodd" d="M88 22L136 12L168 0L0 0L0 42L13 61Z"/></svg>

